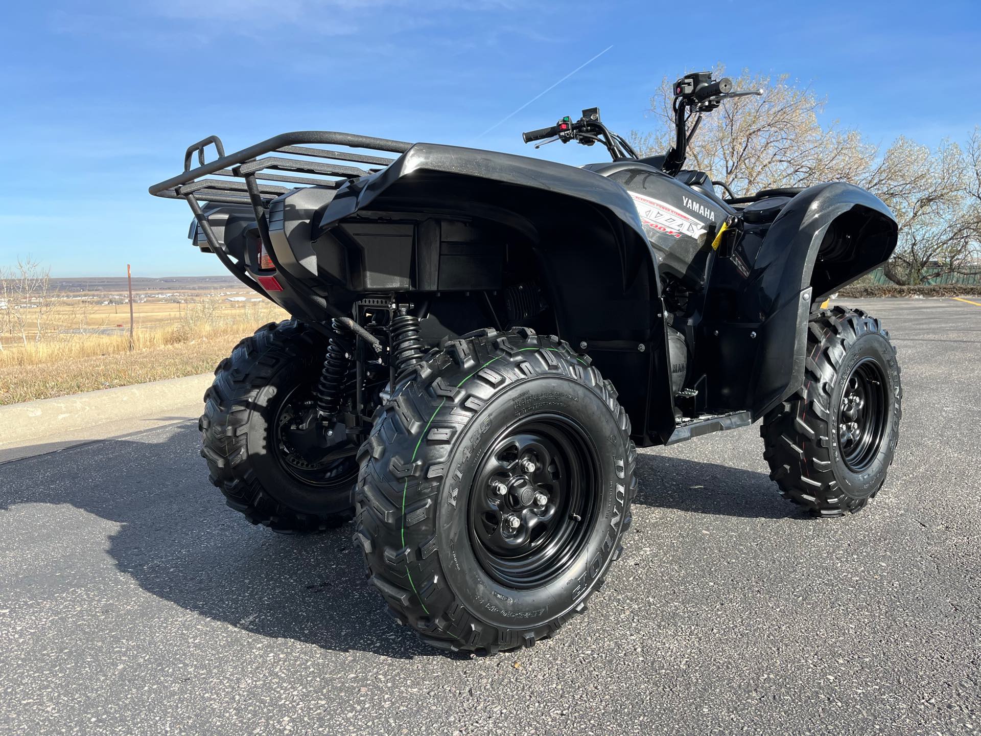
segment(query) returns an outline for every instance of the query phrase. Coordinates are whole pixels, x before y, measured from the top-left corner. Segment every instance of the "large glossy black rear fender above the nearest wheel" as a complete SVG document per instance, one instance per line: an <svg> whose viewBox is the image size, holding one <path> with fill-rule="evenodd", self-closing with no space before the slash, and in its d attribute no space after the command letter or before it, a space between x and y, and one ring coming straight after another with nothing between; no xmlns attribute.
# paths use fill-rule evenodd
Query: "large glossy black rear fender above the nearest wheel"
<svg viewBox="0 0 981 736"><path fill-rule="evenodd" d="M447 238L447 223L460 219L486 235ZM506 276L537 278L559 336L587 352L617 387L635 439L659 442L651 438L674 428L657 262L619 184L548 161L417 143L385 170L341 187L312 218L311 237L315 247L322 237L343 241L347 257L361 259L354 270L349 261L348 271L365 280L346 288L368 291L442 292L471 279L469 289L499 288L492 264L503 259L490 258L484 268L475 248L507 249L508 263L511 250L527 249L535 273ZM461 255L476 258L477 267L454 260ZM461 268L465 279L446 281Z"/></svg>

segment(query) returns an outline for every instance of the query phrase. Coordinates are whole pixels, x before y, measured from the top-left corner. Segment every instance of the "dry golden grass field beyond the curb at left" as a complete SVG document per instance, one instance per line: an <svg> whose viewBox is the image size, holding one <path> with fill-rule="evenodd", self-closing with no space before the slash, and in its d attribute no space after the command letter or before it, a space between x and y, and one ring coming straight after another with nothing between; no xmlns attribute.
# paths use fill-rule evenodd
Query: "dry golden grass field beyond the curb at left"
<svg viewBox="0 0 981 736"><path fill-rule="evenodd" d="M287 317L255 297L241 287L134 293L131 345L119 292L59 292L20 315L8 305L0 311L0 404L210 371L241 338Z"/></svg>

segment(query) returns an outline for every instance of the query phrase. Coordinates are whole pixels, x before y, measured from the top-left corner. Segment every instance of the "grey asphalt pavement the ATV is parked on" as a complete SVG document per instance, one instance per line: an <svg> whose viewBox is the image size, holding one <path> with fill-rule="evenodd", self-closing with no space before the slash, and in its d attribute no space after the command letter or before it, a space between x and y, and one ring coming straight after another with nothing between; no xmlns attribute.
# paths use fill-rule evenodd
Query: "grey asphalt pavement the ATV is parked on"
<svg viewBox="0 0 981 736"><path fill-rule="evenodd" d="M903 368L896 462L865 511L780 499L756 426L644 450L587 615L497 657L397 626L350 526L250 526L193 423L38 443L0 465L0 732L974 732L974 301L843 300L885 321Z"/></svg>

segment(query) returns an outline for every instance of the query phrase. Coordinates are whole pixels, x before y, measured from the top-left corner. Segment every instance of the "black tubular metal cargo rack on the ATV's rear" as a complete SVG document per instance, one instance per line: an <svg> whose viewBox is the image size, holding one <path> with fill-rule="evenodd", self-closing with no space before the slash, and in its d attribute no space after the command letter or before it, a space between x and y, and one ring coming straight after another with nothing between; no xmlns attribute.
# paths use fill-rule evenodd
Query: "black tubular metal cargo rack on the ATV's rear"
<svg viewBox="0 0 981 736"><path fill-rule="evenodd" d="M215 147L218 158L207 163L204 152L210 145ZM239 281L262 293L245 268L232 261L232 257L215 237L200 202L251 205L255 212L259 237L266 246L267 252L272 253L273 246L269 239L269 224L266 220L269 202L297 186L337 188L352 179L379 172L395 160L357 151L312 147L315 145L336 145L399 154L405 153L412 147L411 143L402 140L355 135L349 132L296 131L284 132L226 155L222 139L217 135L209 135L187 147L184 153L183 173L165 182L153 184L150 193L169 199L186 200L211 250L225 267L238 277ZM196 169L191 169L191 161L195 153L199 165ZM293 186L279 184L293 184Z"/></svg>

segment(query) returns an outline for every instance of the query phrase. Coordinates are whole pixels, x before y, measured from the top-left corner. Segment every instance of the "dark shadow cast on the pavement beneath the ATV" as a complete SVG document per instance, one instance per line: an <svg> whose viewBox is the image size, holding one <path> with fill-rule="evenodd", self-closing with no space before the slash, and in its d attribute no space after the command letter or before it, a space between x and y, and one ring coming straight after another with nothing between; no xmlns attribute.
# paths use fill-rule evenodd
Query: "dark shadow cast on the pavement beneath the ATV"
<svg viewBox="0 0 981 736"><path fill-rule="evenodd" d="M120 524L108 540L119 571L186 610L339 652L445 656L382 610L350 524L308 536L250 527L219 502L201 465L188 462L198 447L196 427L181 424L0 465L0 528L3 511L17 504L71 504ZM640 504L766 518L800 513L761 473L646 453L638 467ZM51 527L35 533L59 536ZM101 540L86 541L86 565L97 568L103 549Z"/></svg>

